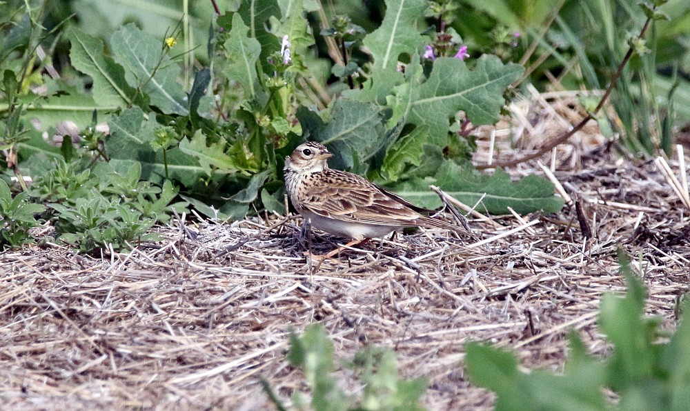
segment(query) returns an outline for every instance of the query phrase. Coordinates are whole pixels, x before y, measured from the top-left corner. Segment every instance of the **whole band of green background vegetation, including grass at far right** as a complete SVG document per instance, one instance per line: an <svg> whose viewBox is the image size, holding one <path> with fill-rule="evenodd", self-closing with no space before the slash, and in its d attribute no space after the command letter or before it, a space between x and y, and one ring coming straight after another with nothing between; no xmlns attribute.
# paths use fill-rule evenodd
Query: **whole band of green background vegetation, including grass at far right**
<svg viewBox="0 0 690 411"><path fill-rule="evenodd" d="M220 219L282 213L283 159L306 139L420 206L440 206L434 184L465 203L486 193L486 212L556 212L548 181L472 170L470 132L497 121L520 81L603 88L631 45L615 112L597 116L604 132L652 154L690 120L682 1L213 3L141 1L138 17L93 1L0 5L0 170L47 206L34 218L60 241L126 248L167 221L172 201ZM124 202L134 214L115 217ZM82 221L86 210L99 221Z"/></svg>

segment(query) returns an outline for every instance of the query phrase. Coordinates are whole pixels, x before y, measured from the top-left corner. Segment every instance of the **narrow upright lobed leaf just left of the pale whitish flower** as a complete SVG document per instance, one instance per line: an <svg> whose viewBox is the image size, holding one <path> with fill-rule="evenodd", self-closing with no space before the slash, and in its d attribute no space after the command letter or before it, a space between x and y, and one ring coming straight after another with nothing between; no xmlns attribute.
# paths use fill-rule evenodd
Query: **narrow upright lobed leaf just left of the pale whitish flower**
<svg viewBox="0 0 690 411"><path fill-rule="evenodd" d="M233 15L233 29L230 30L230 37L225 42L225 49L228 51L225 63L225 74L229 79L233 79L242 85L246 99L251 99L262 92L259 88L259 77L257 77L256 62L261 53L261 45L257 39L247 37L249 28L242 21L239 13Z"/></svg>

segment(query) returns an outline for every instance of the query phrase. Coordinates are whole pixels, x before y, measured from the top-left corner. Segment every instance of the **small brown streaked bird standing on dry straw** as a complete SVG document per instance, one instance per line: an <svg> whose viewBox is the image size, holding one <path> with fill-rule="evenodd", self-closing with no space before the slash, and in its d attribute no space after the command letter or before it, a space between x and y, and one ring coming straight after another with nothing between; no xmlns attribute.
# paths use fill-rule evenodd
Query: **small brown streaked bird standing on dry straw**
<svg viewBox="0 0 690 411"><path fill-rule="evenodd" d="M426 217L422 213L433 210L417 207L358 174L328 168L331 157L322 143L300 144L285 157L285 187L295 210L312 227L352 239L346 247L405 227L460 230Z"/></svg>

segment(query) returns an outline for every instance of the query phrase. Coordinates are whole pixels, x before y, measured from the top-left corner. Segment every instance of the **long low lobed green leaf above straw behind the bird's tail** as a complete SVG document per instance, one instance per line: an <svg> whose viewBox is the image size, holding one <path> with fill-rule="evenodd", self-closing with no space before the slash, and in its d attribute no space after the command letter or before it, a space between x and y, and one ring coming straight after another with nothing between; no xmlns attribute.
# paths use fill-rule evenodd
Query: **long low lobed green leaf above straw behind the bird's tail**
<svg viewBox="0 0 690 411"><path fill-rule="evenodd" d="M428 189L431 184L468 206L474 206L486 193L477 206L479 212L506 214L508 207L519 214L537 210L558 212L563 206L563 200L553 195L553 184L542 177L532 174L513 182L501 169L493 175L479 174L453 161L445 161L433 177L417 177L392 186L391 190L417 206L438 208L442 202L435 192Z"/></svg>

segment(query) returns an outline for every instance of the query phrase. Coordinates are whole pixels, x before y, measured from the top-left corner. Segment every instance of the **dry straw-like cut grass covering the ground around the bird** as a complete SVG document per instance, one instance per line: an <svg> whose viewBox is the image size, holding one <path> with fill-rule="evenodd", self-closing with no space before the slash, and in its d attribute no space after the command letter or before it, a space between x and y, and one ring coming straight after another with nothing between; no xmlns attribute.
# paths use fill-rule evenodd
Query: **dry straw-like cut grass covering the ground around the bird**
<svg viewBox="0 0 690 411"><path fill-rule="evenodd" d="M522 139L578 115L560 97L549 110L536 98L526 104ZM477 161L486 161L489 131L481 133ZM497 152L510 155L500 134ZM310 244L299 219L282 217L175 221L160 228L164 241L102 258L50 242L3 252L3 406L266 408L258 377L283 398L304 388L286 362L288 333L320 321L338 355L382 345L395 350L403 376L427 375L428 408L490 408L492 394L464 375L464 343L491 341L516 350L528 367L559 370L564 336L575 329L604 355L596 315L602 294L623 290L619 246L649 287L647 311L673 328L676 298L689 283L690 210L653 163L615 159L595 130L574 141L551 165L580 205L579 219L568 206L555 215L475 220L475 237L405 234L318 269L304 250L331 250L337 239L316 235ZM511 172L542 174L535 164Z"/></svg>

